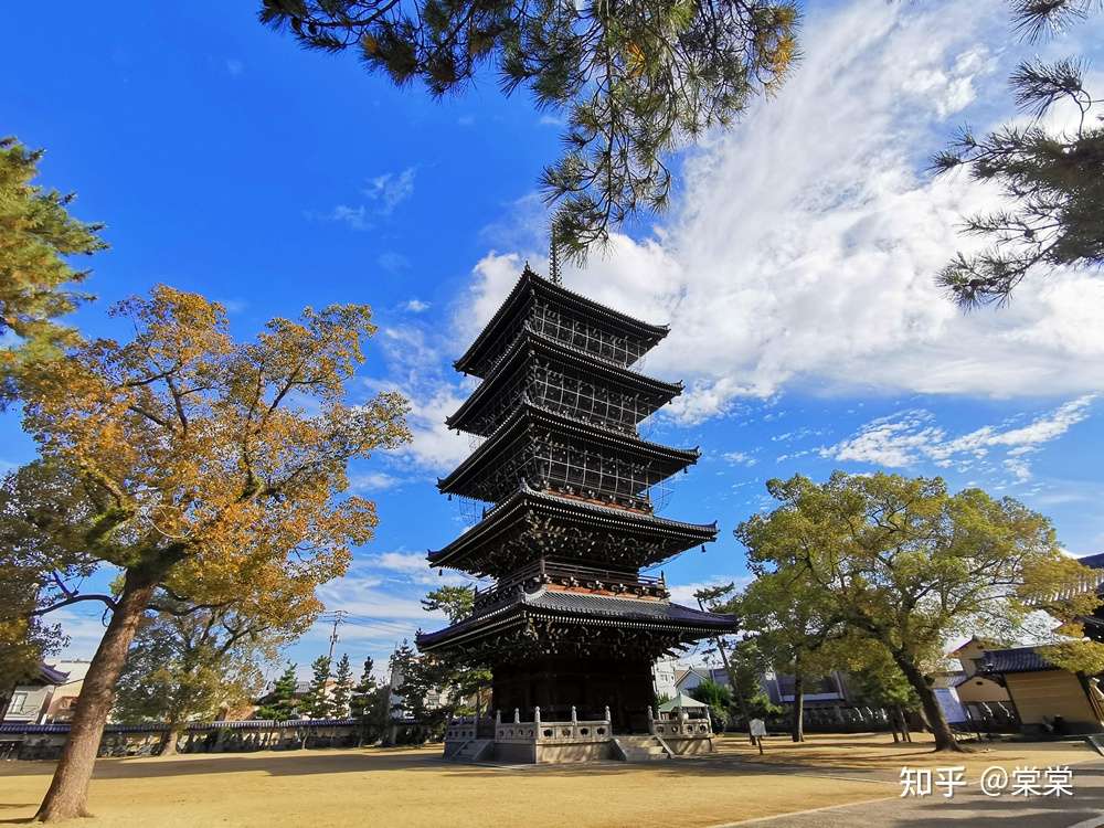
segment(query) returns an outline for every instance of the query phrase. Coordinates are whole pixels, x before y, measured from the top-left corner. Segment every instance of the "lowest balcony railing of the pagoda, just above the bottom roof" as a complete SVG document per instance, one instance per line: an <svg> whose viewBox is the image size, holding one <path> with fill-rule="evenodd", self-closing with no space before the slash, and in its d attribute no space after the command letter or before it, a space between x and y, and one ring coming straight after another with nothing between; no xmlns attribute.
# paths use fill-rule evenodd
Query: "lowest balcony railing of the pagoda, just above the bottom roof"
<svg viewBox="0 0 1104 828"><path fill-rule="evenodd" d="M624 570L602 570L560 561L545 561L542 558L500 578L489 590L480 591L476 587L473 608L478 615L519 592L534 592L548 585L609 592L625 597L669 598L671 595L662 575L654 577Z"/></svg>

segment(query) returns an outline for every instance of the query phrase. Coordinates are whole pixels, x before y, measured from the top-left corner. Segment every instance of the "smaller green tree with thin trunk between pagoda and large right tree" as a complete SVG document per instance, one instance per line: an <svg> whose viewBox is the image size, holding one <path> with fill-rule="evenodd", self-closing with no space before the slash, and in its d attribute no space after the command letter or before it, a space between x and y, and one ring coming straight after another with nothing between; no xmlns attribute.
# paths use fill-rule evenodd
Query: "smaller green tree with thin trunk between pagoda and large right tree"
<svg viewBox="0 0 1104 828"><path fill-rule="evenodd" d="M757 633L756 641L775 671L794 678L790 736L805 741L805 682L832 669L826 645L842 635L831 598L800 565L777 569L755 564L755 580L735 598L729 612Z"/></svg>

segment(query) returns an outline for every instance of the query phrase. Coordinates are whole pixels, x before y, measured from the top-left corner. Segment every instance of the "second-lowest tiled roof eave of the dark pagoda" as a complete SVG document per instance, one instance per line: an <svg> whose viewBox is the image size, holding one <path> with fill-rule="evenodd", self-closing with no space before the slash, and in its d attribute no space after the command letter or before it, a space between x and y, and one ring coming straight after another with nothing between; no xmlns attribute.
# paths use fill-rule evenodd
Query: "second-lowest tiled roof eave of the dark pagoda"
<svg viewBox="0 0 1104 828"><path fill-rule="evenodd" d="M452 543L439 550L429 552L426 555L426 560L431 566L463 569L452 562L456 561L458 563L459 559L465 556L466 551L482 543L488 538L493 538L498 531L522 520L524 513L530 510L560 513L582 521L593 521L604 526L613 524L622 529L656 532L671 538L679 538L688 541L687 548L716 540L716 521L712 523L688 523L670 520L669 518L659 518L655 514L634 512L627 509L560 497L549 492L534 491L528 486L522 485L518 491L495 507L486 518L456 538ZM649 565L659 563L662 560L667 559L652 561Z"/></svg>

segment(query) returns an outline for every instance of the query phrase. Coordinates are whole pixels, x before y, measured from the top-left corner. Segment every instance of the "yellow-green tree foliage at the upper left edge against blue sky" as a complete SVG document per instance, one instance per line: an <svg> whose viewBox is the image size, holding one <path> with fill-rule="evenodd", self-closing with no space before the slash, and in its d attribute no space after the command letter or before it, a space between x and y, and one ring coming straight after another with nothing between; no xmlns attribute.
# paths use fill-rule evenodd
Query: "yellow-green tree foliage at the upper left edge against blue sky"
<svg viewBox="0 0 1104 828"><path fill-rule="evenodd" d="M107 245L103 225L68 214L75 198L34 184L42 150L0 139L0 406L15 393L15 375L77 341L57 323L87 295L75 286L88 275L68 262Z"/></svg>

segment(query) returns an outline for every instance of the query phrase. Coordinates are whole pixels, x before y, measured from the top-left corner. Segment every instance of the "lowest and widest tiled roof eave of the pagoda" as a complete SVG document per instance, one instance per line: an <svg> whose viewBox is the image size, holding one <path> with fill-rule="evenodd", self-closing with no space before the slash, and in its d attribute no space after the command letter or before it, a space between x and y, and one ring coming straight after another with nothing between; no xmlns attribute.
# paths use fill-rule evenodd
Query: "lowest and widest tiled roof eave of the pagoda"
<svg viewBox="0 0 1104 828"><path fill-rule="evenodd" d="M546 618L580 626L681 631L705 637L739 628L735 616L708 613L667 601L623 598L544 588L522 593L512 601L473 615L435 633L418 634L418 649L432 650L465 639L496 635L527 618Z"/></svg>

